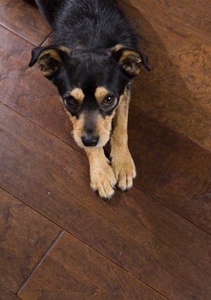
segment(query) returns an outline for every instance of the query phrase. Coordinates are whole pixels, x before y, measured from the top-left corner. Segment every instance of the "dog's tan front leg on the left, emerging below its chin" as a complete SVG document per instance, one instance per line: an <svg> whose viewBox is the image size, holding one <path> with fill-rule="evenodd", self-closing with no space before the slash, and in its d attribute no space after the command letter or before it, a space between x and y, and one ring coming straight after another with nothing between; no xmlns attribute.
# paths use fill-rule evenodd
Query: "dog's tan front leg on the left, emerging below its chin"
<svg viewBox="0 0 211 300"><path fill-rule="evenodd" d="M89 158L91 188L103 199L110 199L115 192L117 180L103 148L84 149Z"/></svg>

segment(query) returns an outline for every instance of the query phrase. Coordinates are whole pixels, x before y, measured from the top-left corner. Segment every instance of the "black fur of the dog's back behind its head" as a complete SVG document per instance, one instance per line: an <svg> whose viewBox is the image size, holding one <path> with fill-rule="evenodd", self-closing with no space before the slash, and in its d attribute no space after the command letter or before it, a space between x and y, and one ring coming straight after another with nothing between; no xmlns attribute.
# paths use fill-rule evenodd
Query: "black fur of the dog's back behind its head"
<svg viewBox="0 0 211 300"><path fill-rule="evenodd" d="M114 0L36 0L49 21L54 43L89 51L116 44L137 49L134 30Z"/></svg>

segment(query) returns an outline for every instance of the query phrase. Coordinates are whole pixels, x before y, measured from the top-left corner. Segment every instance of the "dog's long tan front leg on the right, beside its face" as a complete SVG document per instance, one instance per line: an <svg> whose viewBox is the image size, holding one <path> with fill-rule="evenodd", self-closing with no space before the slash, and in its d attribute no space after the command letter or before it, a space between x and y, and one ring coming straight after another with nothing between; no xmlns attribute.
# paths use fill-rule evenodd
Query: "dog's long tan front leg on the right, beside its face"
<svg viewBox="0 0 211 300"><path fill-rule="evenodd" d="M116 111L114 129L110 137L111 165L117 178L117 187L122 189L122 191L132 187L133 179L136 177L136 168L127 144L129 99L130 91L126 87L124 97Z"/></svg>

